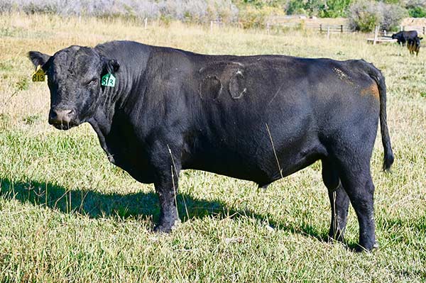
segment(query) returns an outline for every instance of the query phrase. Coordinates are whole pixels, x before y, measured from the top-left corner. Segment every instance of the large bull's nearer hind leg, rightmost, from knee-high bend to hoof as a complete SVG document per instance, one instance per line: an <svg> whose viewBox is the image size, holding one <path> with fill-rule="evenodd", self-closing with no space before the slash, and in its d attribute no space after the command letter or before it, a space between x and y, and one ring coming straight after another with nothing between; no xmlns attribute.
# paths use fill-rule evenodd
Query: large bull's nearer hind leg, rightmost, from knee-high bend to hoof
<svg viewBox="0 0 426 283"><path fill-rule="evenodd" d="M359 222L358 250L372 250L377 247L374 225L373 194L374 185L371 179L368 162L356 162L356 158L348 160L351 164L342 164L340 179L348 194ZM364 165L363 165L364 163Z"/></svg>

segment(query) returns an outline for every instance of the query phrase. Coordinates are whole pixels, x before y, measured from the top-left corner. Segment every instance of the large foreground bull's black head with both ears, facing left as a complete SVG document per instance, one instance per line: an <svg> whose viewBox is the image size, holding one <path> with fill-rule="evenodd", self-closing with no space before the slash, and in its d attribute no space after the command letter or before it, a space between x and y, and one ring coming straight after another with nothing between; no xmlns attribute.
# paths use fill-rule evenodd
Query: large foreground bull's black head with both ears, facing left
<svg viewBox="0 0 426 283"><path fill-rule="evenodd" d="M103 88L101 78L119 70L119 62L87 47L70 46L53 56L31 51L28 57L48 75L49 123L61 130L93 116Z"/></svg>

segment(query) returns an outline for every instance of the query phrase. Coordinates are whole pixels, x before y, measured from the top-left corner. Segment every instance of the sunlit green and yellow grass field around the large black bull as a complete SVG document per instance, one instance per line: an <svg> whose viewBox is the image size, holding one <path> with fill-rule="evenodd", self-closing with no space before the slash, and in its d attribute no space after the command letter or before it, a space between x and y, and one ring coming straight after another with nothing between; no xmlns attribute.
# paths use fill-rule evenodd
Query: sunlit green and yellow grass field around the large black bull
<svg viewBox="0 0 426 283"><path fill-rule="evenodd" d="M55 16L0 16L0 282L426 282L426 48L367 45L366 35L149 26ZM316 163L273 183L187 170L182 224L152 233L152 184L109 164L88 125L47 123L49 92L30 81L29 50L136 40L208 54L364 58L383 71L395 163L373 152L380 248L327 243L329 200ZM184 205L184 200L185 204ZM153 215L153 216L151 216Z"/></svg>

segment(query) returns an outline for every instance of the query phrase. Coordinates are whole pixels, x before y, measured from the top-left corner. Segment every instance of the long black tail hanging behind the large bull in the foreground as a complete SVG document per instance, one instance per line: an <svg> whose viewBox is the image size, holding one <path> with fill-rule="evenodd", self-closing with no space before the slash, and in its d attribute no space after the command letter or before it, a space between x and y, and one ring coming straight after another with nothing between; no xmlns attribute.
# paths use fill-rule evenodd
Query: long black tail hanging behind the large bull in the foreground
<svg viewBox="0 0 426 283"><path fill-rule="evenodd" d="M378 93L380 97L380 130L382 136L382 144L383 144L383 171L387 171L391 168L393 163L393 152L391 147L391 138L389 137L388 123L386 121L386 83L385 77L383 74L376 69L376 67L371 66L370 77L374 79L378 86Z"/></svg>

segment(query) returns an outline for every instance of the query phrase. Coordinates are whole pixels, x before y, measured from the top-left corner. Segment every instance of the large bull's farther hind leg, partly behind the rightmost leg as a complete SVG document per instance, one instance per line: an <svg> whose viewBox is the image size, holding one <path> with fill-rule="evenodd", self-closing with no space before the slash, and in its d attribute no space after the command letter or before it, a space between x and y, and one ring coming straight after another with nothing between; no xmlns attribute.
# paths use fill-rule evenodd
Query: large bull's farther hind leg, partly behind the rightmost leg
<svg viewBox="0 0 426 283"><path fill-rule="evenodd" d="M322 160L322 180L328 189L330 204L332 206L329 238L343 242L349 209L349 196L342 187L339 172L329 160Z"/></svg>

